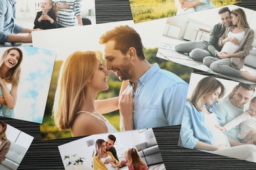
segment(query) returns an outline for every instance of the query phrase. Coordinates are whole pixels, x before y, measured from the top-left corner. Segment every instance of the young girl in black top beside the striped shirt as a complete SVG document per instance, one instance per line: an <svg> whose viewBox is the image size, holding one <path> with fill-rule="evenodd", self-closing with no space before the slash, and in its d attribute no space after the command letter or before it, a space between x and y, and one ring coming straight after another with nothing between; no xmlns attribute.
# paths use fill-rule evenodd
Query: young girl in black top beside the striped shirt
<svg viewBox="0 0 256 170"><path fill-rule="evenodd" d="M56 28L56 16L58 9L56 3L52 0L43 0L41 11L37 12L33 29L53 29Z"/></svg>

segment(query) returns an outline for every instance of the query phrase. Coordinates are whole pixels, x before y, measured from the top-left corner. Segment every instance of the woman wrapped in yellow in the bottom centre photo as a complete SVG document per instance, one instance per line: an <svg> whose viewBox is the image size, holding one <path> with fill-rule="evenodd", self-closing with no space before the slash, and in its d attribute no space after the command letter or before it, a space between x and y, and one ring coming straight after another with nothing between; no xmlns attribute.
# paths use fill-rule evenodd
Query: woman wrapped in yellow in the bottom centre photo
<svg viewBox="0 0 256 170"><path fill-rule="evenodd" d="M98 139L95 143L95 156L93 156L93 169L118 170L119 167L112 167L112 163L118 165L119 162L111 152L106 151L106 141Z"/></svg>

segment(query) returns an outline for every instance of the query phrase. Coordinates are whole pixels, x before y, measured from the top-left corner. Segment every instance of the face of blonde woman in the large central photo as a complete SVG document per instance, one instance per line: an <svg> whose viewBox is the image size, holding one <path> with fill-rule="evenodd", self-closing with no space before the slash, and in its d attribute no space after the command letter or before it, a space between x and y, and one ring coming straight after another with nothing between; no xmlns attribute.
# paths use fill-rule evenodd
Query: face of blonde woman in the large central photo
<svg viewBox="0 0 256 170"><path fill-rule="evenodd" d="M107 76L109 72L103 67L100 59L97 59L97 66L88 86L97 91L108 90Z"/></svg>

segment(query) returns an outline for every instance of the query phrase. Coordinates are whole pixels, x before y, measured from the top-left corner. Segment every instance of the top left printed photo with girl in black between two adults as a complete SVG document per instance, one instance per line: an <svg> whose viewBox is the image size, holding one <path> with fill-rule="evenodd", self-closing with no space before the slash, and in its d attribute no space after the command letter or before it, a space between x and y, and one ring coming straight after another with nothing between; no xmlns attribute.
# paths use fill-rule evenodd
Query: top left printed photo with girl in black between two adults
<svg viewBox="0 0 256 170"><path fill-rule="evenodd" d="M33 31L96 24L95 0L3 0L0 18L0 46L31 46Z"/></svg>

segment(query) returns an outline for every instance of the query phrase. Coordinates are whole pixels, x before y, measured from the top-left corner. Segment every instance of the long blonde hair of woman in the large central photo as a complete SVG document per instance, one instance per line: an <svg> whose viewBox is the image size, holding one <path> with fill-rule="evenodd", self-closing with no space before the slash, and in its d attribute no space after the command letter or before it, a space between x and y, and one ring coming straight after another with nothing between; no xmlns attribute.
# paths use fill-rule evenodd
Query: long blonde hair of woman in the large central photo
<svg viewBox="0 0 256 170"><path fill-rule="evenodd" d="M54 97L53 118L56 127L69 129L85 102L87 83L96 69L95 52L77 51L62 64Z"/></svg>

